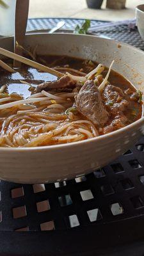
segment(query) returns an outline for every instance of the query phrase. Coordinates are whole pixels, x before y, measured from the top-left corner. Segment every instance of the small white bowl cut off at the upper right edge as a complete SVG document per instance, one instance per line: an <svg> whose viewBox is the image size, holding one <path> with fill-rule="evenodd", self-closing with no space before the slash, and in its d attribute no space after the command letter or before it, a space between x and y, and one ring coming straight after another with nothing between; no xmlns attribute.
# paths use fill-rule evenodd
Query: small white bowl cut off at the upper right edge
<svg viewBox="0 0 144 256"><path fill-rule="evenodd" d="M140 4L136 7L136 25L141 38L144 40L144 4Z"/></svg>

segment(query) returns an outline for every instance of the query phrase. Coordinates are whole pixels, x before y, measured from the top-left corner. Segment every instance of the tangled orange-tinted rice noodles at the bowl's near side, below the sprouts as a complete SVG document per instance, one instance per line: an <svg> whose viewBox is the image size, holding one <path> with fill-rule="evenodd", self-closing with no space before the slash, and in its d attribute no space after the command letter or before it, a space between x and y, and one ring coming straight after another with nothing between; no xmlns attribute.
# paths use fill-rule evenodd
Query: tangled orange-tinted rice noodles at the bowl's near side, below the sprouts
<svg viewBox="0 0 144 256"><path fill-rule="evenodd" d="M35 109L30 111L29 113L27 112L27 115L19 116L19 118L17 115L13 115L5 123L4 127L9 128L7 131L4 129L6 131L6 140L3 139L3 136L1 140L3 143L5 141L7 147L38 147L47 145L47 143L50 143L50 145L51 143L68 143L84 140L84 138L93 138L94 136L93 124L87 120L65 121L65 123L59 124L58 116L64 117L65 115L53 114L54 116L56 115L56 118L54 118L52 113L33 112ZM51 121L51 117L56 121ZM38 120L37 123L32 121L36 119ZM26 120L28 120L28 124ZM17 124L14 129L13 124Z"/></svg>

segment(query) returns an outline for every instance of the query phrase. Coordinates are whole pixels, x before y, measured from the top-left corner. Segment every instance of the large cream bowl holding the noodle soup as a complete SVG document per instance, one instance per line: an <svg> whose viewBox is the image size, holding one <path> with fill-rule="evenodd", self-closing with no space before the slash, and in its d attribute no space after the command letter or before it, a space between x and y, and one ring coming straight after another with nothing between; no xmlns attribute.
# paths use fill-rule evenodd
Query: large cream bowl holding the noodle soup
<svg viewBox="0 0 144 256"><path fill-rule="evenodd" d="M95 60L127 77L144 92L144 52L127 44L96 36L27 35L25 47L38 44L38 54L60 54ZM13 50L13 38L0 40ZM0 148L0 178L13 182L42 183L72 179L92 172L126 152L144 133L144 118L98 138L35 148Z"/></svg>

